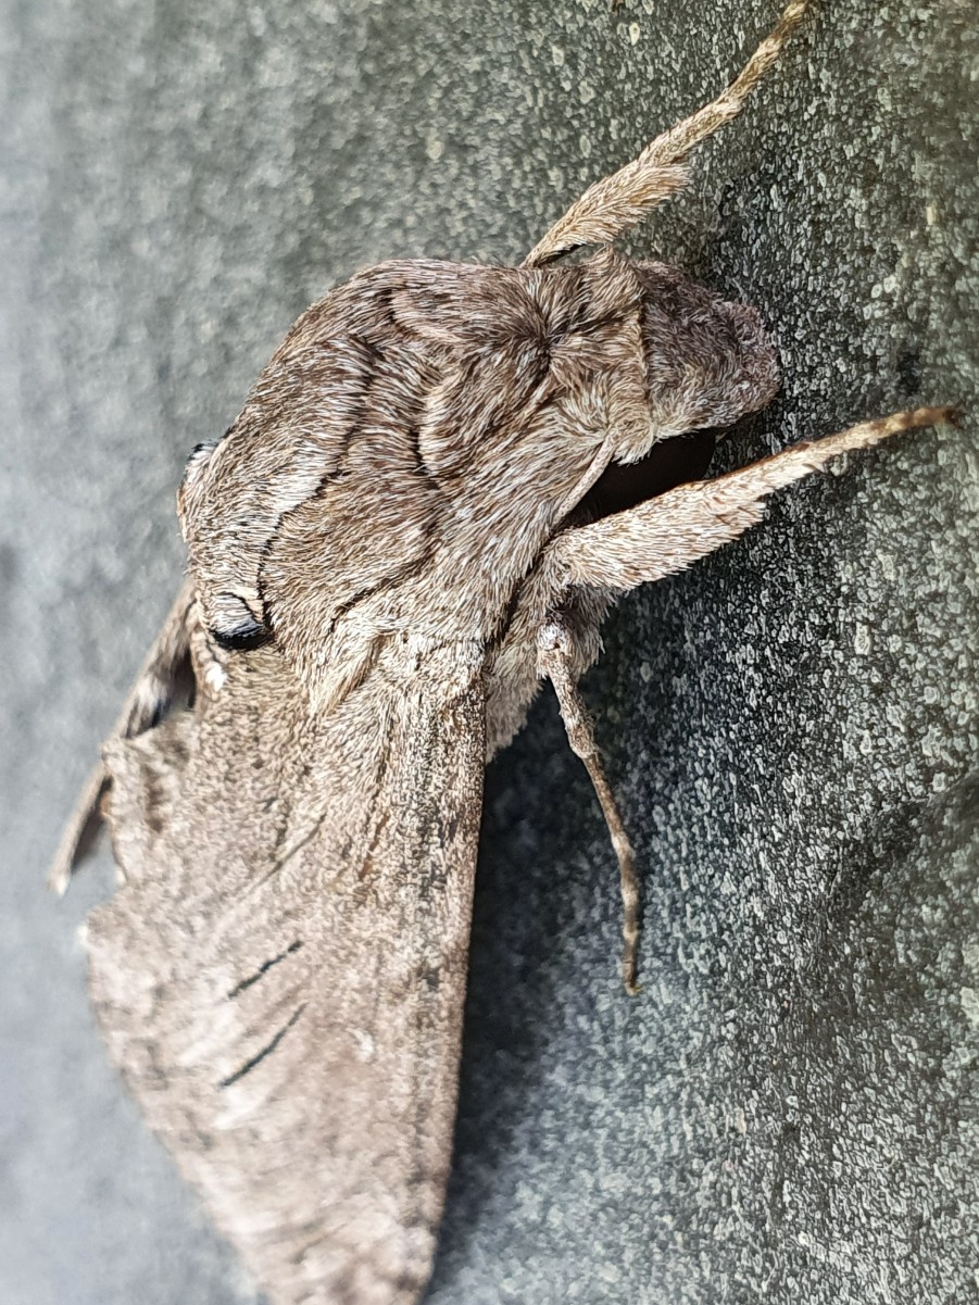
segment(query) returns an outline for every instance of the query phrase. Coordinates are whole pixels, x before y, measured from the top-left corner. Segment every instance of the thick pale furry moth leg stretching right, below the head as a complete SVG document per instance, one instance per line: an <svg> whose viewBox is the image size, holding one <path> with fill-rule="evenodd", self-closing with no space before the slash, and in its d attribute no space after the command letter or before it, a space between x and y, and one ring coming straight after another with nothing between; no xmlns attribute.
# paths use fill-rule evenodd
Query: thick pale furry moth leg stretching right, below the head
<svg viewBox="0 0 979 1305"><path fill-rule="evenodd" d="M557 535L544 555L552 591L576 585L629 590L683 570L761 521L765 499L852 449L901 431L954 422L956 410L923 407L862 422L812 444L795 444L713 480L696 480L589 526Z"/></svg>

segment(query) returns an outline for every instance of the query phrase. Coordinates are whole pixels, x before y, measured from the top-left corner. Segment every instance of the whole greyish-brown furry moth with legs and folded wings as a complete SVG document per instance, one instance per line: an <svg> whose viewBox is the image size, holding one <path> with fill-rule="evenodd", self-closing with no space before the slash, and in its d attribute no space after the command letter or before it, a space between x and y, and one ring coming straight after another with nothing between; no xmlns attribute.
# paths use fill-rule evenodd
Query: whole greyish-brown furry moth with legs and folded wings
<svg viewBox="0 0 979 1305"><path fill-rule="evenodd" d="M54 869L108 821L91 997L275 1305L409 1305L450 1160L486 762L542 679L638 886L577 684L615 599L739 536L865 422L701 479L779 384L757 313L615 238L680 192L807 9L518 268L386 262L309 308L179 492L184 585ZM577 262L576 249L598 247Z"/></svg>

